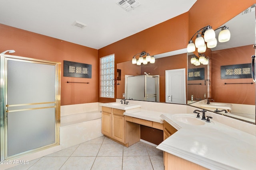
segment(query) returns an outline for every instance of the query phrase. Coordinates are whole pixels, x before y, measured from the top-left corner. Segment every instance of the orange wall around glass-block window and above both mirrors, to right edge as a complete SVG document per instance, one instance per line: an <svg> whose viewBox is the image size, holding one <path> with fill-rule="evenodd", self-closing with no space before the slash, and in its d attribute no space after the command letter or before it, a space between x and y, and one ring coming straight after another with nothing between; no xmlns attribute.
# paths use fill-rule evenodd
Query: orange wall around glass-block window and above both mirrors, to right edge
<svg viewBox="0 0 256 170"><path fill-rule="evenodd" d="M216 29L254 3L256 0L197 0L184 14L99 49L98 57L100 59L114 53L116 65L131 60L132 56L142 51L156 55L186 48L189 39L198 29L206 25ZM98 101L115 100L99 97Z"/></svg>

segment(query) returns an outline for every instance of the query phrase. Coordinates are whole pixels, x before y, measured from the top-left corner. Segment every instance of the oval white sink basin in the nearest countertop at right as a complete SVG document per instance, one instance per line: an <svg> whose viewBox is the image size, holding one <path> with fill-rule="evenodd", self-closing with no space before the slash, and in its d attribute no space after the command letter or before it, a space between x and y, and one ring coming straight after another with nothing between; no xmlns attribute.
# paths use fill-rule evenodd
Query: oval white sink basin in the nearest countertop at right
<svg viewBox="0 0 256 170"><path fill-rule="evenodd" d="M202 121L199 118L194 117L194 115L185 115L185 114L176 114L172 116L176 121L186 123L189 125L204 125L205 121Z"/></svg>

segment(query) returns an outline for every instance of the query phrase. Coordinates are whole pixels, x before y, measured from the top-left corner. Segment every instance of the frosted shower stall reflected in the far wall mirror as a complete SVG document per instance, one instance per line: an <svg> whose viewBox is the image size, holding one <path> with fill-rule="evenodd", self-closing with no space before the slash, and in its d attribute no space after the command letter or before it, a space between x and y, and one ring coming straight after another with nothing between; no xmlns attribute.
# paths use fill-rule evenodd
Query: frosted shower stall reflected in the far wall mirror
<svg viewBox="0 0 256 170"><path fill-rule="evenodd" d="M129 76L126 81L126 98L159 102L159 76Z"/></svg>

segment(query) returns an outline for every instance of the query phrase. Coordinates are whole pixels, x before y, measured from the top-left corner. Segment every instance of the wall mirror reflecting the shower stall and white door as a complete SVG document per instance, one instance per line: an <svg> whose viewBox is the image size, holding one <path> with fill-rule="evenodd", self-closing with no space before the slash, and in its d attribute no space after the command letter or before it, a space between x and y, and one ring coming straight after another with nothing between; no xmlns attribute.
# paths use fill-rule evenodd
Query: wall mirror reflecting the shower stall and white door
<svg viewBox="0 0 256 170"><path fill-rule="evenodd" d="M126 76L139 76L139 75L150 75L150 76L158 76L159 77L159 86L158 86L158 97L156 98L156 102L169 102L169 103L180 103L180 104L186 104L186 101L180 102L180 100L175 100L174 95L168 95L168 90L166 90L166 70L177 70L182 71L182 69L187 68L187 53L186 49L172 51L169 53L154 55L156 58L156 61L154 64L141 64L140 66L136 64L132 64L131 61L126 61L124 63L118 63L117 69L121 70L121 79L118 81L117 85L117 98L122 99L123 93L127 93L126 85L127 85L127 79ZM175 79L176 77L174 77ZM176 81L173 82L174 84L179 84L180 86L180 80L176 78ZM157 83L158 83L157 82ZM129 83L129 82L128 82ZM142 82L143 83L143 82ZM140 84L142 84L140 83ZM183 98L186 100L186 69L184 72L184 81L182 81L183 89L180 89L181 91L184 91L184 95L182 95ZM147 85L148 87L148 85ZM139 86L135 86L134 88L140 88ZM174 87L175 88L175 87ZM142 89L141 91L144 91ZM130 97L130 95L125 94L127 96L126 98L132 98L133 100L143 100L141 98L136 97ZM166 96L170 96L170 100L166 99ZM144 101L152 101L150 99L145 98ZM173 102L172 102L173 101Z"/></svg>

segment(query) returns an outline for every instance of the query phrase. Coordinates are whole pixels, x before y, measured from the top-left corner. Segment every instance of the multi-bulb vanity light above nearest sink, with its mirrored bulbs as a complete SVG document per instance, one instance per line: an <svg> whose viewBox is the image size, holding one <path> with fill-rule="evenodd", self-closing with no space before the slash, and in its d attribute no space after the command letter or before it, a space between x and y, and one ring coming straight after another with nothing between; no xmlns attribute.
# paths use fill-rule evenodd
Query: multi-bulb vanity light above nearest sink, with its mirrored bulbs
<svg viewBox="0 0 256 170"><path fill-rule="evenodd" d="M230 31L228 30L228 27L223 26L217 29L221 29L218 35L218 41L220 43L224 43L230 40ZM202 27L196 31L196 33L192 36L193 38L197 34L195 43L193 42L192 38L188 41L188 53L196 51L196 48L198 48L198 53L204 53L206 51L206 46L208 48L216 47L217 39L215 37L215 31L217 29L213 30L210 25L207 25L206 27ZM207 45L205 43L207 43Z"/></svg>

